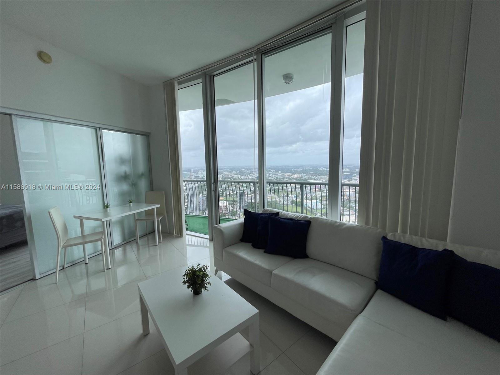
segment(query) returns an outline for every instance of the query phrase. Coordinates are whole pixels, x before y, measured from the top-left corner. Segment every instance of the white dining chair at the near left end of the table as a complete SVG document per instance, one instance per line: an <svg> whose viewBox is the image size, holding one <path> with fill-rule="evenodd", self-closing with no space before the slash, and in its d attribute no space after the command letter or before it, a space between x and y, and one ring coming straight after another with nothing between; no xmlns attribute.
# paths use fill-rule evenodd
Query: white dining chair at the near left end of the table
<svg viewBox="0 0 500 375"><path fill-rule="evenodd" d="M50 220L52 221L52 225L54 226L55 229L55 235L57 236L57 261L55 268L55 282L57 282L59 278L59 259L61 254L61 248L64 249L64 264L62 265L62 268L64 269L66 268L66 247L78 246L92 242L100 242L100 248L102 250L102 267L104 271L106 271L106 263L104 260L104 233L102 231L82 234L76 237L68 238L66 221L64 220L64 216L62 216L59 207L55 206L50 208L48 210L48 215L50 216ZM83 257L85 259L85 263L88 263L85 246L83 246Z"/></svg>

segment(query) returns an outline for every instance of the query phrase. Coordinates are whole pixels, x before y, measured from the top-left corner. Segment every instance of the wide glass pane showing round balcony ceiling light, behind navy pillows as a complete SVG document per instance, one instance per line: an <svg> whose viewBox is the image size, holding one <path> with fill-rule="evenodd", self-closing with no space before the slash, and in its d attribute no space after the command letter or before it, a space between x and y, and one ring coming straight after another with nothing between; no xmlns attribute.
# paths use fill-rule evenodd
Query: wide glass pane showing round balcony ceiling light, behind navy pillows
<svg viewBox="0 0 500 375"><path fill-rule="evenodd" d="M264 56L266 202L326 216L331 34Z"/></svg>

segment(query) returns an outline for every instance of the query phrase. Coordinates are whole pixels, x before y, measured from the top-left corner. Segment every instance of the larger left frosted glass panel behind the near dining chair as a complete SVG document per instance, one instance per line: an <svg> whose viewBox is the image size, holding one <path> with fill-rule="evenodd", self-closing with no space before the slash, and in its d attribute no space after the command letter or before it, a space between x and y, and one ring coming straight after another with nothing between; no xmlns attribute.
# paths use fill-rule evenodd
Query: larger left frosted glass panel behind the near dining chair
<svg viewBox="0 0 500 375"><path fill-rule="evenodd" d="M80 235L76 213L102 209L103 186L99 161L97 129L16 117L17 154L26 208L33 227L38 272L54 271L57 237L48 216L58 206L64 215L70 237ZM97 222L85 221L87 233L102 230ZM87 254L100 251L100 245L86 245ZM67 262L83 258L81 246L67 249Z"/></svg>

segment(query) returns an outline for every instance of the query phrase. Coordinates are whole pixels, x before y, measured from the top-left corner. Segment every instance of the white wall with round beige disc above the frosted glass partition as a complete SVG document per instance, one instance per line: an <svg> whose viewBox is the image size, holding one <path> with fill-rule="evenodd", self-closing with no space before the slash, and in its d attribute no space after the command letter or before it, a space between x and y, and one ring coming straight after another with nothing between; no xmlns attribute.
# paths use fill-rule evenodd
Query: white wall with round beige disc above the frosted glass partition
<svg viewBox="0 0 500 375"><path fill-rule="evenodd" d="M147 87L4 22L0 28L0 105L149 131L153 188L165 190L168 209L171 190L162 85ZM38 50L48 52L53 62L38 60ZM10 131L3 131L3 122L1 126L2 144L13 144Z"/></svg>

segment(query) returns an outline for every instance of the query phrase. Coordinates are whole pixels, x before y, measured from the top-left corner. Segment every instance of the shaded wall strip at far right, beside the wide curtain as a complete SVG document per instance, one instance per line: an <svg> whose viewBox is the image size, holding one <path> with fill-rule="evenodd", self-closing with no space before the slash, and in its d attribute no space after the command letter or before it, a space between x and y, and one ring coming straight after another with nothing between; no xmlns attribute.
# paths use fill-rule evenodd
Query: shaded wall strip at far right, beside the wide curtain
<svg viewBox="0 0 500 375"><path fill-rule="evenodd" d="M448 240L500 250L500 1L474 1Z"/></svg>

